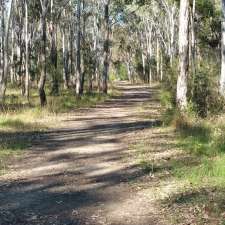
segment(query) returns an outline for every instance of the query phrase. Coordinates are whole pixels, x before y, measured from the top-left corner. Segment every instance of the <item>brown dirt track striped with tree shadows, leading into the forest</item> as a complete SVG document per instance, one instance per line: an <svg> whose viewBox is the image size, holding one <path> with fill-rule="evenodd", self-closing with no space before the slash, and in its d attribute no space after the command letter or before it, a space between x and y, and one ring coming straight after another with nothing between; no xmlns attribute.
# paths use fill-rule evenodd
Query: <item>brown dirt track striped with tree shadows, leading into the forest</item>
<svg viewBox="0 0 225 225"><path fill-rule="evenodd" d="M156 202L134 185L145 174L127 141L160 124L156 90L118 88L121 96L74 112L60 129L37 137L0 177L0 225L168 225ZM149 101L153 119L140 110Z"/></svg>

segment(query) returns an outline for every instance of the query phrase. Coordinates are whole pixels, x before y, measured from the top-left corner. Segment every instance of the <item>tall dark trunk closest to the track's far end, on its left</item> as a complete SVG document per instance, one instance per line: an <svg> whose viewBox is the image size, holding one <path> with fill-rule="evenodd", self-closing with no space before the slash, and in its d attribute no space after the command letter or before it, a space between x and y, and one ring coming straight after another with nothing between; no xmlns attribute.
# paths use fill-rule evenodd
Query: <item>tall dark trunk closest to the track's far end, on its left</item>
<svg viewBox="0 0 225 225"><path fill-rule="evenodd" d="M104 94L108 92L108 75L109 75L109 60L110 60L110 21L109 21L109 4L110 0L105 2L105 18L104 18L104 29L105 29L105 41L104 41L104 68L102 76L102 91Z"/></svg>

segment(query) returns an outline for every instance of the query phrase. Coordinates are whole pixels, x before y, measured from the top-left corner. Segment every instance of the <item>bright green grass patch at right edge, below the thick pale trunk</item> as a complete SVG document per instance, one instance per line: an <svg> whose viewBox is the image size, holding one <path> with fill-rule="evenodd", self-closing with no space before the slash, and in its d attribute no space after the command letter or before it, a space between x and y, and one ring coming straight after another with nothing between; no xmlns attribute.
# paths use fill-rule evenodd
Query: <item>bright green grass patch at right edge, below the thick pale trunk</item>
<svg viewBox="0 0 225 225"><path fill-rule="evenodd" d="M192 184L225 187L225 128L216 121L194 120L177 128L177 146L190 154L197 165L172 167L175 176Z"/></svg>

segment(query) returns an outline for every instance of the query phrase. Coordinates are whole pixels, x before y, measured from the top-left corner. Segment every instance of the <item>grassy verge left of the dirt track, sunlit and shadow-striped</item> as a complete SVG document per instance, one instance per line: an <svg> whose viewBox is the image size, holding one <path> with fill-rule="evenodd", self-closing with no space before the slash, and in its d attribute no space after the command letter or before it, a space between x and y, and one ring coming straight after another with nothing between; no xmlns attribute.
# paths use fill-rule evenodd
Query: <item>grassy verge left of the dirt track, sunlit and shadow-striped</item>
<svg viewBox="0 0 225 225"><path fill-rule="evenodd" d="M76 97L75 93L66 90L58 96L48 95L48 105L41 107L35 93L32 90L27 102L19 89L9 88L7 91L6 102L0 110L0 173L7 171L15 157L24 156L32 140L55 124L59 126L60 121L72 112L76 114L78 109L95 107L120 94L113 85L105 95L93 92Z"/></svg>

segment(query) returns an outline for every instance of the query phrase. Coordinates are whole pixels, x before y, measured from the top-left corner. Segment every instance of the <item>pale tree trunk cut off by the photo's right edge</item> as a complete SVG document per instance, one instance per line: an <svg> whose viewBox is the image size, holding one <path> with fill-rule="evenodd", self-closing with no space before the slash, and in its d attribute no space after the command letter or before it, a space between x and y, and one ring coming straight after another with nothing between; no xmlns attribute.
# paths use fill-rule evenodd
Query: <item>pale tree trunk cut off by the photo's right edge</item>
<svg viewBox="0 0 225 225"><path fill-rule="evenodd" d="M225 0L222 0L222 40L221 40L221 75L220 75L220 94L225 97Z"/></svg>

